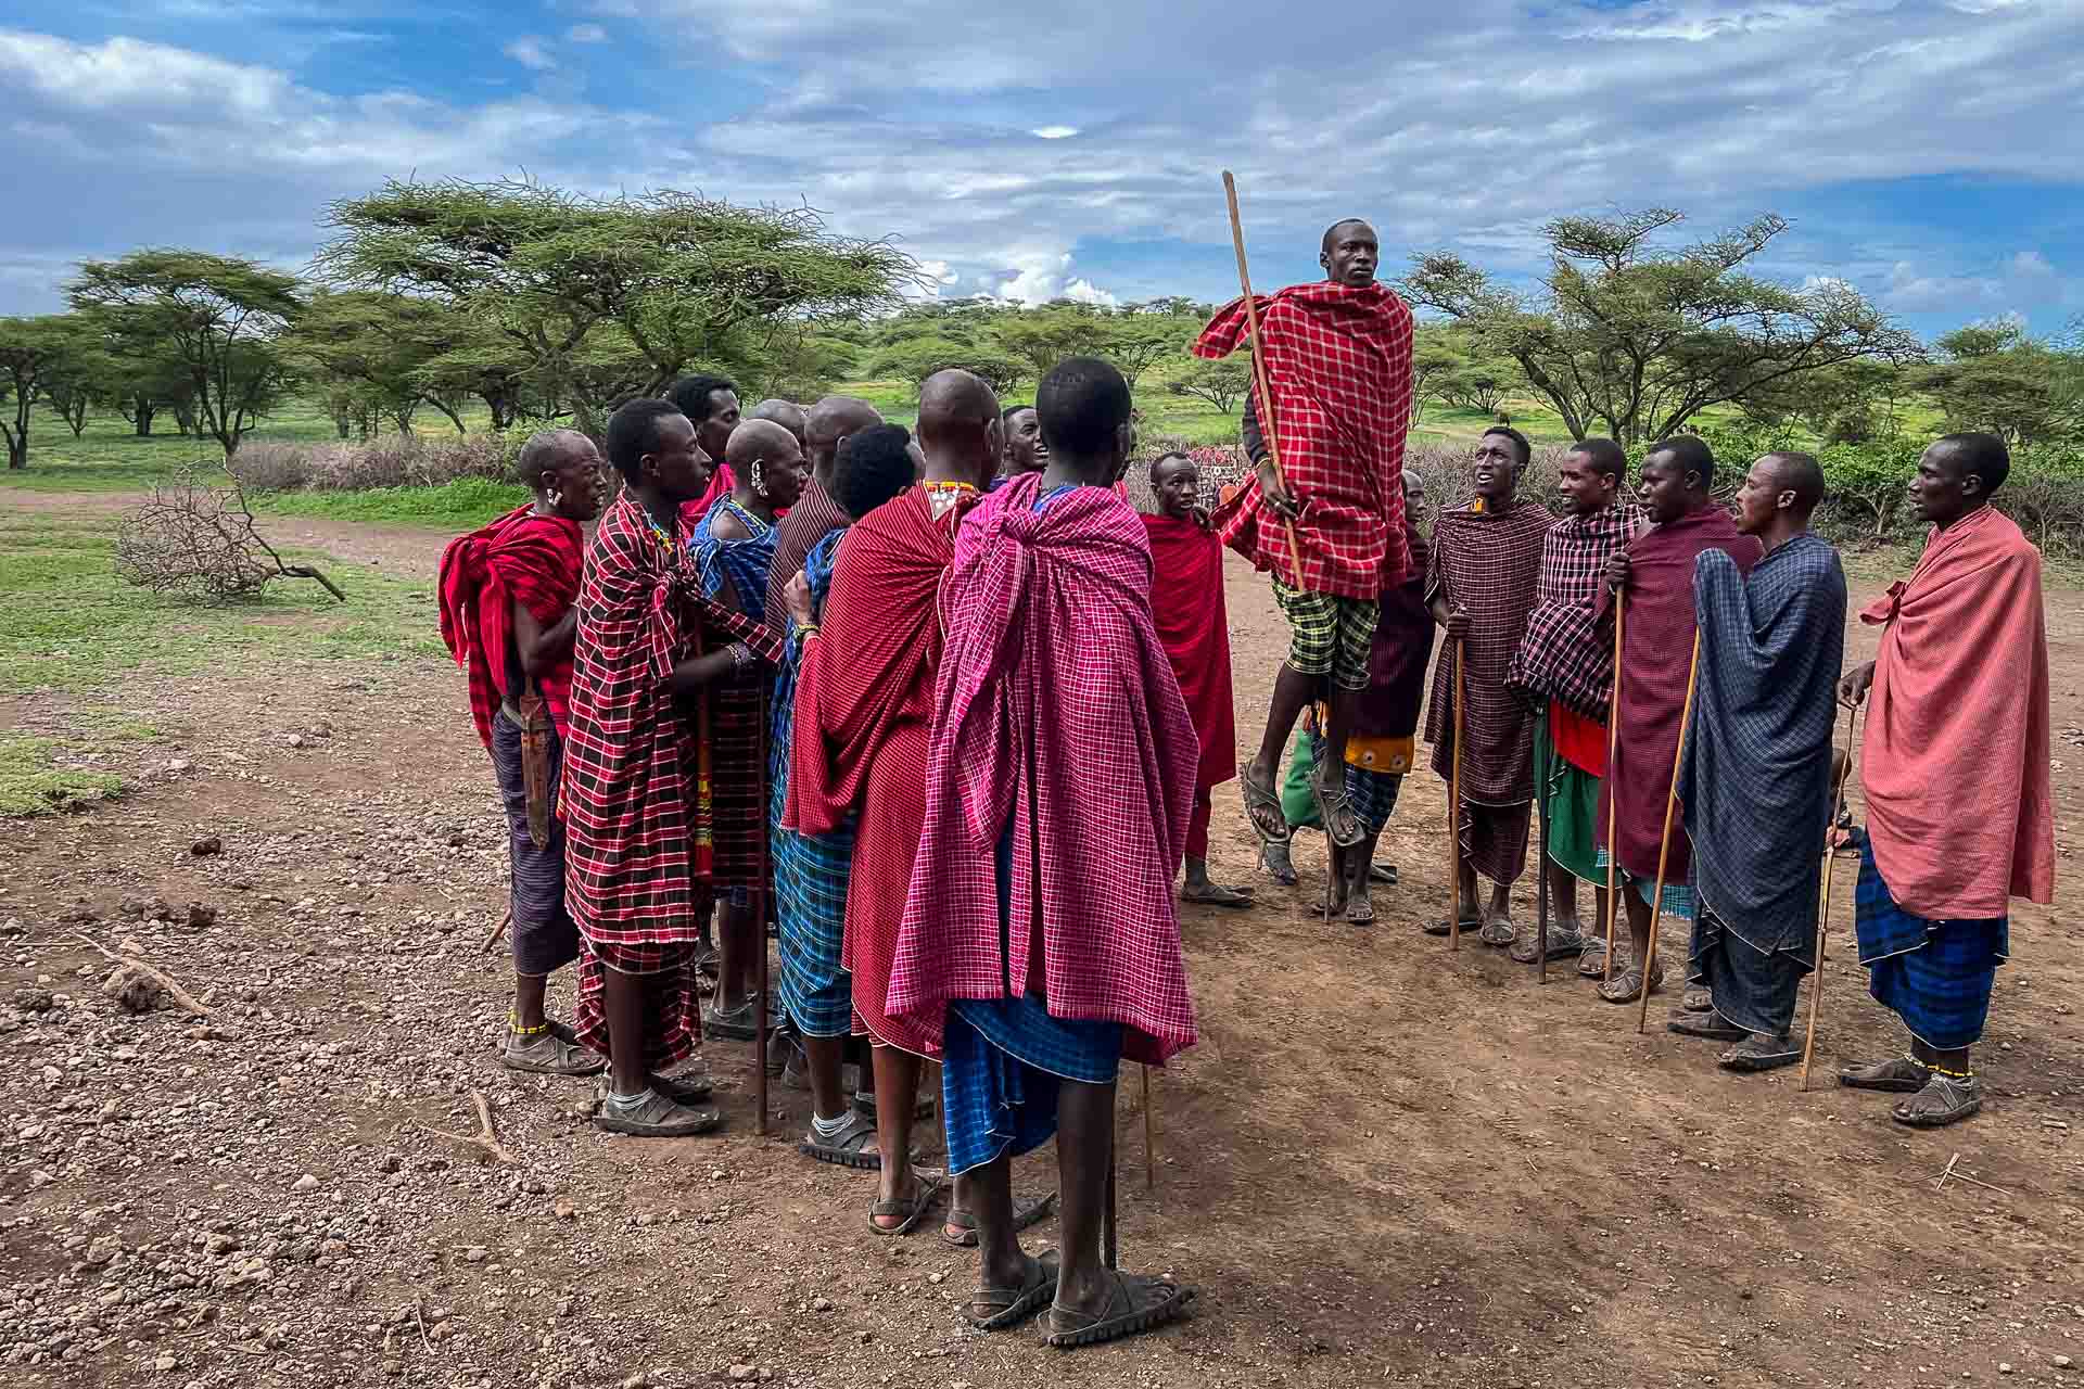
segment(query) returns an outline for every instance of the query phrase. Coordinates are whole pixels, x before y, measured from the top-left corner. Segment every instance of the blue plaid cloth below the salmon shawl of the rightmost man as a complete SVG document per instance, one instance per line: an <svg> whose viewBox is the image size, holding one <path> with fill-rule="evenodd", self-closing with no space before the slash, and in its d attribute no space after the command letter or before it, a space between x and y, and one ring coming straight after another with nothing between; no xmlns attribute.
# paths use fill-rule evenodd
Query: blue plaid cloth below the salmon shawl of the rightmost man
<svg viewBox="0 0 2084 1389"><path fill-rule="evenodd" d="M1930 920L1896 906L1861 835L1853 895L1859 962L1874 1002L1903 1018L1928 1047L1955 1052L1982 1041L1996 966L2011 954L2007 916Z"/></svg>

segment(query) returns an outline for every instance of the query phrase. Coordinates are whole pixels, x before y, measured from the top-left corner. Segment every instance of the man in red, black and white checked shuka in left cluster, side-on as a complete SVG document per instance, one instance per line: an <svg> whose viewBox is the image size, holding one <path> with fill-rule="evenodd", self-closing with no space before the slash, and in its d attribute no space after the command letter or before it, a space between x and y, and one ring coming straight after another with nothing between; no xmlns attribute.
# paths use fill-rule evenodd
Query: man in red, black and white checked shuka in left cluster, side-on
<svg viewBox="0 0 2084 1389"><path fill-rule="evenodd" d="M711 687L765 679L779 641L702 598L681 504L709 469L665 400L609 419L623 494L594 533L573 643L565 748L565 895L579 927L579 1041L609 1058L594 1120L611 1133L715 1129L706 1079L661 1072L702 1035L694 945L713 887L706 748L690 727Z"/></svg>

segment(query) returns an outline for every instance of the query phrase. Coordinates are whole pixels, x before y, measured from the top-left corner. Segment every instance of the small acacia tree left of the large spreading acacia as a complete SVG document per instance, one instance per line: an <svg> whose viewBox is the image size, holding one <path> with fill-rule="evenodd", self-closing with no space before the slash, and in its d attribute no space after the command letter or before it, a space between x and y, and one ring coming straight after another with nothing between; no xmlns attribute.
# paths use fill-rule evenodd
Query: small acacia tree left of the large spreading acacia
<svg viewBox="0 0 2084 1389"><path fill-rule="evenodd" d="M294 379L283 344L304 308L294 275L200 250L140 250L81 260L67 292L119 344L181 362L200 423L227 458Z"/></svg>

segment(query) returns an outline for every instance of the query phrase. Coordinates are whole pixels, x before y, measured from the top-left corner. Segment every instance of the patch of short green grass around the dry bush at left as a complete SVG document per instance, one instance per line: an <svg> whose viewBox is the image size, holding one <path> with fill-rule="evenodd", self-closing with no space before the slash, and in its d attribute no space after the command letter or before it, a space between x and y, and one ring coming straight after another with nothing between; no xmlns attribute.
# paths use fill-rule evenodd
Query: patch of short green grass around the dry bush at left
<svg viewBox="0 0 2084 1389"><path fill-rule="evenodd" d="M442 650L429 583L363 566L325 564L325 573L346 591L346 604L304 579L279 579L235 604L165 598L117 579L106 527L0 512L0 591L8 596L0 689L73 693L127 673L190 675L298 658L400 660Z"/></svg>

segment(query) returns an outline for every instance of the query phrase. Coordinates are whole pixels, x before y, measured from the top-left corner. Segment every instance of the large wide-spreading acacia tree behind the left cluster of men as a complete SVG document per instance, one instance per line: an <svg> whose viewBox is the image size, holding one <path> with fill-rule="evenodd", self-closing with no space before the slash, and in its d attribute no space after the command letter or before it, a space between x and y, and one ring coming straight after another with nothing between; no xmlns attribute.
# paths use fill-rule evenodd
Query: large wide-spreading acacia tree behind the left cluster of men
<svg viewBox="0 0 2084 1389"><path fill-rule="evenodd" d="M586 344L615 327L665 389L721 354L736 329L771 319L844 319L921 283L886 242L827 235L811 208L740 208L696 194L584 198L540 183L386 183L331 206L317 258L340 287L425 296L471 314L519 350L536 389L569 402ZM598 356L598 354L594 354Z"/></svg>

